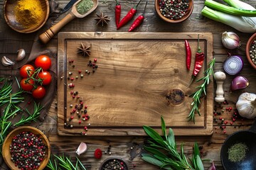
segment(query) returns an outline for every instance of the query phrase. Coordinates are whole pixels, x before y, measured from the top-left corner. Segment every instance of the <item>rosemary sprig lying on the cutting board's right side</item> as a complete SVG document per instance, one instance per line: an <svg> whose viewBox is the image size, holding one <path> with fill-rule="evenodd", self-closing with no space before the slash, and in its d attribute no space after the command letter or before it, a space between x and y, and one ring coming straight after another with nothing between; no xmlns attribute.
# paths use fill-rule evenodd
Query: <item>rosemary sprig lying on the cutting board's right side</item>
<svg viewBox="0 0 256 170"><path fill-rule="evenodd" d="M188 121L193 120L193 123L195 123L195 113L198 113L198 115L201 115L199 112L199 108L200 108L200 104L201 104L201 97L203 94L206 96L206 87L210 82L210 76L214 72L214 70L213 70L214 64L215 64L215 58L213 58L213 60L211 60L208 63L208 68L204 72L206 76L197 80L197 82L203 80L203 84L201 84L200 86L197 86L196 88L198 89L198 91L191 94L191 96L193 96L192 97L193 102L191 103L191 106L192 106L191 111L188 114Z"/></svg>

